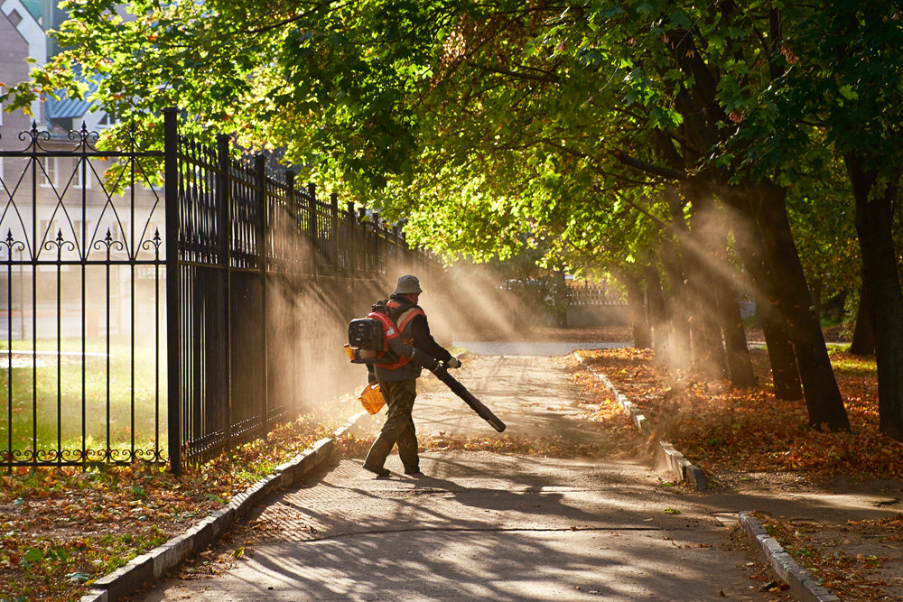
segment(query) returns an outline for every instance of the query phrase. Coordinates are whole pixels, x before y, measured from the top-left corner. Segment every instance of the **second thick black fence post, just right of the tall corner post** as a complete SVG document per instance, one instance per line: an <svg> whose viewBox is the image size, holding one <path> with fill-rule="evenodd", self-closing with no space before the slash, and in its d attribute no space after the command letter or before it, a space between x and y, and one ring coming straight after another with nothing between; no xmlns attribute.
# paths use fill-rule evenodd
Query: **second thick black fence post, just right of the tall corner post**
<svg viewBox="0 0 903 602"><path fill-rule="evenodd" d="M232 280L231 269L229 265L229 250L231 243L232 217L231 204L229 198L229 163L231 159L228 156L228 134L219 134L217 136L217 208L219 209L219 266L223 269L223 288L221 299L223 301L223 318L225 324L222 329L222 337L225 338L223 345L223 363L221 367L225 370L223 374L222 384L223 404L225 409L226 424L224 431L226 433L226 449L232 449Z"/></svg>

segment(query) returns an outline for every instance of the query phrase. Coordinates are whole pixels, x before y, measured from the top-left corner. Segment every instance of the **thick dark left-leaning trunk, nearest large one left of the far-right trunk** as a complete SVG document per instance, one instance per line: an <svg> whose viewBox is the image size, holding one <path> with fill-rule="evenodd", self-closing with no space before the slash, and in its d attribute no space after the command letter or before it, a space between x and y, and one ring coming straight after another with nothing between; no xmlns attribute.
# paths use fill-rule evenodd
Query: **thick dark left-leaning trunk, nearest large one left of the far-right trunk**
<svg viewBox="0 0 903 602"><path fill-rule="evenodd" d="M832 431L848 431L850 421L837 380L834 378L821 325L812 310L812 296L796 252L787 218L787 191L770 182L735 190L746 193L755 210L766 260L773 274L780 307L787 314L796 365L803 382L809 425Z"/></svg>

